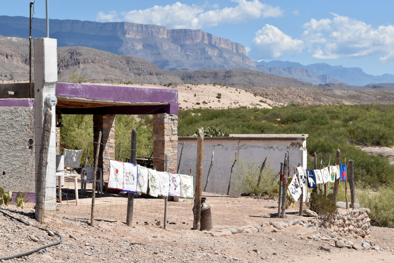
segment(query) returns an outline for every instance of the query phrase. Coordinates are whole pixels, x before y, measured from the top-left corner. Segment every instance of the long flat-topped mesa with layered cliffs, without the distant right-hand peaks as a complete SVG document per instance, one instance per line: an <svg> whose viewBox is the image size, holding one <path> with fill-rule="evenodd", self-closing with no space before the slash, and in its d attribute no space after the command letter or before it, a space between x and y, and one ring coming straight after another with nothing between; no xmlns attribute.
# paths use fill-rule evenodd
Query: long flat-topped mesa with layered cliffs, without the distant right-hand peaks
<svg viewBox="0 0 394 263"><path fill-rule="evenodd" d="M49 21L58 46L87 46L139 57L165 70L255 69L245 47L201 30L130 22ZM27 17L0 16L0 35L28 38ZM33 20L33 38L45 37L45 19Z"/></svg>

